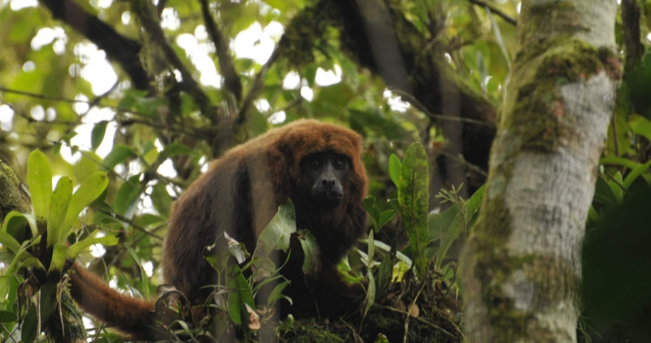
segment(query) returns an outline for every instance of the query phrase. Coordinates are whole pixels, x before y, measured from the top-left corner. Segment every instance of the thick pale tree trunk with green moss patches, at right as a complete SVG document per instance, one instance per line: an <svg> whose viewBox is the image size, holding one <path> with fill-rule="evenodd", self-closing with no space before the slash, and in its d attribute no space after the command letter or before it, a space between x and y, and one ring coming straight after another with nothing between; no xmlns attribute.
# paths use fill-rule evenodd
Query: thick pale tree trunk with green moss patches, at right
<svg viewBox="0 0 651 343"><path fill-rule="evenodd" d="M463 263L467 342L576 342L580 246L621 71L615 0L522 1Z"/></svg>

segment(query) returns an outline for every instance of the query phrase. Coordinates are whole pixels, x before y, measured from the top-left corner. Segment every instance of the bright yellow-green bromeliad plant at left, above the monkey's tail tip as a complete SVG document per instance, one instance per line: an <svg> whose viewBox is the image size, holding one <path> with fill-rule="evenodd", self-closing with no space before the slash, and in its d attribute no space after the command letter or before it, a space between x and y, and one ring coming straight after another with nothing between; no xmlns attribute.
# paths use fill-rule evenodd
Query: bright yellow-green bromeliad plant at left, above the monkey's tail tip
<svg viewBox="0 0 651 343"><path fill-rule="evenodd" d="M66 246L71 240L72 224L79 212L106 189L106 174L93 174L72 193L72 182L65 177L60 178L52 191L50 166L42 152L34 150L29 154L27 170L27 183L34 204L33 213L12 211L2 224L2 261L9 267L8 273L0 277L0 299L4 299L3 307L12 309L10 312L16 318L27 310L22 327L14 327L14 332L20 333L23 342L31 343L40 332L40 327L35 327L35 324L45 325L57 307L60 298L57 296L58 289L65 285L61 276L65 272L66 261L76 259L79 252L90 245L112 246L117 244L117 239L112 235L95 237L96 231L71 246ZM45 246L40 244L42 240L47 240ZM23 277L14 279L14 276ZM36 298L7 297L8 293L15 292L12 283L16 280L21 282L21 288L25 288L23 292L36 294Z"/></svg>

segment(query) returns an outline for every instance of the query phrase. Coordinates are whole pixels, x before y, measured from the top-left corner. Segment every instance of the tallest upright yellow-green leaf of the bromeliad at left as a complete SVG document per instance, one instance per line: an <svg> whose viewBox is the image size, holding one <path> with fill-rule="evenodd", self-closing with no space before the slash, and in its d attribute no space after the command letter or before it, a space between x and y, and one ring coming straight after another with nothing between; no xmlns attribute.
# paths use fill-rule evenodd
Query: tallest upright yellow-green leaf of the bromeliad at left
<svg viewBox="0 0 651 343"><path fill-rule="evenodd" d="M52 196L52 173L47 157L39 150L34 150L27 158L27 185L29 185L29 193L32 196L36 222L42 223L42 228L45 228L47 210Z"/></svg>

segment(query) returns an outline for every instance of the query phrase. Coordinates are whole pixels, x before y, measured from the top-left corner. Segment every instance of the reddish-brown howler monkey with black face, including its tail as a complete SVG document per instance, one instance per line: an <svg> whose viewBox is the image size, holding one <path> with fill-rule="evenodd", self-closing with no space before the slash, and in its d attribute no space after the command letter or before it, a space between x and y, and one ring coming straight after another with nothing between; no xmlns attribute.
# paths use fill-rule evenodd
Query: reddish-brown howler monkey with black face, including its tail
<svg viewBox="0 0 651 343"><path fill-rule="evenodd" d="M256 237L288 198L297 228L310 230L321 263L334 266L365 230L360 150L352 130L299 120L226 152L173 204L162 255L165 283L202 303L210 289L201 286L217 283L204 248L226 232L254 251ZM151 338L153 303L119 294L78 264L74 269L71 294L85 311L136 338Z"/></svg>

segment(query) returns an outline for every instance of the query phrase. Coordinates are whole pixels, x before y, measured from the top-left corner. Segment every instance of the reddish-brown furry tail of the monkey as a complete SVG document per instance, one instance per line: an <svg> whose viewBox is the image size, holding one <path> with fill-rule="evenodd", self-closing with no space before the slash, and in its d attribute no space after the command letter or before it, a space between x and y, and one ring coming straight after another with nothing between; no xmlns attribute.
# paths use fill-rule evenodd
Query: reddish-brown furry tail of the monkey
<svg viewBox="0 0 651 343"><path fill-rule="evenodd" d="M71 272L70 292L79 307L88 314L138 340L152 340L156 324L152 301L126 296L86 268L75 263Z"/></svg>

